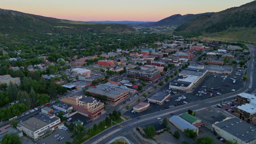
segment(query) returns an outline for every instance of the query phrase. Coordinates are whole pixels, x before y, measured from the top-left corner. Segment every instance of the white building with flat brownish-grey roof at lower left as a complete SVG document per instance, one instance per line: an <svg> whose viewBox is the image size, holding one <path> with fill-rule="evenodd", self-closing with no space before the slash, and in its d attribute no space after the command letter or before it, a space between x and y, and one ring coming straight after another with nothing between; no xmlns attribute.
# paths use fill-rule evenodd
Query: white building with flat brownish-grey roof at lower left
<svg viewBox="0 0 256 144"><path fill-rule="evenodd" d="M30 119L24 120L17 125L17 129L34 140L54 131L60 124L60 118L55 115L41 113Z"/></svg>

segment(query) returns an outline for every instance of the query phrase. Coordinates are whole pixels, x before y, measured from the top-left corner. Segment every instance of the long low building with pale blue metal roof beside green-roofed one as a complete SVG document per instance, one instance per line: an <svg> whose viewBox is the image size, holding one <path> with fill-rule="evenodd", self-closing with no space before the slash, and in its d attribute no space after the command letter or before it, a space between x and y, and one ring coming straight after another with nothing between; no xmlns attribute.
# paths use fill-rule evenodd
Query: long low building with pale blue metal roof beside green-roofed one
<svg viewBox="0 0 256 144"><path fill-rule="evenodd" d="M182 132L184 132L185 129L194 130L197 134L199 132L199 129L197 127L195 127L194 125L192 125L191 123L187 122L179 116L170 117L169 122L171 122L175 127L177 127Z"/></svg>

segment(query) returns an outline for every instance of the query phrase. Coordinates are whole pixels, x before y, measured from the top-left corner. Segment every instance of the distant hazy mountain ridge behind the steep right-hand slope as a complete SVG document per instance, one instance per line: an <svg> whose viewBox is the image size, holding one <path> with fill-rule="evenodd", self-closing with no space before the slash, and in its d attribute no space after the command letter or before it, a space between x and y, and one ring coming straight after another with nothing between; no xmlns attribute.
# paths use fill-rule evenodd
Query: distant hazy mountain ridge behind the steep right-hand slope
<svg viewBox="0 0 256 144"><path fill-rule="evenodd" d="M187 21L196 18L198 16L202 15L212 15L213 12L208 12L208 13L201 13L201 14L186 14L186 15L181 15L181 14L175 14L170 17L164 18L158 22L150 22L150 23L145 23L145 24L138 24L138 26L141 27L152 27L152 26L171 26L171 25L181 25L186 23Z"/></svg>

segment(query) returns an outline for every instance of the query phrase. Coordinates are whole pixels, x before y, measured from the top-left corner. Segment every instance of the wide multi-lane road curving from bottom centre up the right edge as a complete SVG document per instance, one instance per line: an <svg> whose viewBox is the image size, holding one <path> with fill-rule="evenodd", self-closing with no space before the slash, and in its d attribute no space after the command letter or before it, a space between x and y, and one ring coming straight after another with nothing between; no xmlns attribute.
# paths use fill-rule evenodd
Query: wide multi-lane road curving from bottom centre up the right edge
<svg viewBox="0 0 256 144"><path fill-rule="evenodd" d="M169 118L170 113L174 113L175 115L182 114L184 112L187 112L188 109L196 111L196 110L203 109L205 107L214 105L215 103L222 101L222 98L223 98L223 100L230 100L230 99L236 97L237 94L239 94L239 93L255 92L256 69L254 68L255 60L253 59L253 55L254 55L253 52L255 50L250 45L247 45L247 46L250 49L250 52L251 52L250 55L251 55L252 59L248 62L248 69L247 69L248 79L247 79L247 81L245 81L243 88L241 88L240 90L235 91L230 94L224 94L221 96L217 96L217 97L213 97L213 98L209 98L209 99L205 99L205 100L195 101L193 103L179 106L179 107L174 107L172 109L166 109L166 110L158 111L155 113L147 114L147 115L140 117L140 119L133 118L133 119L124 121L124 122L120 123L123 127L115 125L111 128L106 129L105 131L97 134L96 136L92 137L91 139L83 142L83 144L103 144L104 141L108 142L111 139L122 135L123 133L133 130L133 128L136 128L137 126L143 126L143 125L147 125L148 123L157 121L157 119L156 119L157 117L161 117L162 119L164 117Z"/></svg>

